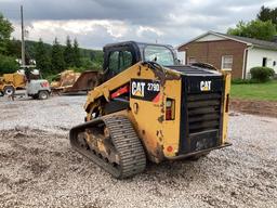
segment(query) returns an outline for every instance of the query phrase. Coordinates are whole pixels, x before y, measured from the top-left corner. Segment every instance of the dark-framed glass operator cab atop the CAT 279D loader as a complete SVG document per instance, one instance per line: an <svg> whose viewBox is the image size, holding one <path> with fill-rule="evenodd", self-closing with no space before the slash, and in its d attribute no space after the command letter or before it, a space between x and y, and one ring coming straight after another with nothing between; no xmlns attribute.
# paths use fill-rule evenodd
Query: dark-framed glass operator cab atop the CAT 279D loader
<svg viewBox="0 0 277 208"><path fill-rule="evenodd" d="M106 80L141 61L157 62L163 66L177 64L176 53L169 44L127 41L107 44L103 51Z"/></svg>

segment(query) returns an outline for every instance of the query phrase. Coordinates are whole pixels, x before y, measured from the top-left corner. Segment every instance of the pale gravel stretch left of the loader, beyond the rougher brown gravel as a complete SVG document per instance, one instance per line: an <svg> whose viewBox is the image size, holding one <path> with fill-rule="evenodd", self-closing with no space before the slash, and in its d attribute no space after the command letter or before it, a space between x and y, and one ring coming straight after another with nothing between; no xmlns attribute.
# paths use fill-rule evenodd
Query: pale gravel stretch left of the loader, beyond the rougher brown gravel
<svg viewBox="0 0 277 208"><path fill-rule="evenodd" d="M67 133L68 130L83 121L85 113L84 95L51 96L39 101L16 98L15 101L0 96L0 130L15 127L29 127L53 133Z"/></svg>

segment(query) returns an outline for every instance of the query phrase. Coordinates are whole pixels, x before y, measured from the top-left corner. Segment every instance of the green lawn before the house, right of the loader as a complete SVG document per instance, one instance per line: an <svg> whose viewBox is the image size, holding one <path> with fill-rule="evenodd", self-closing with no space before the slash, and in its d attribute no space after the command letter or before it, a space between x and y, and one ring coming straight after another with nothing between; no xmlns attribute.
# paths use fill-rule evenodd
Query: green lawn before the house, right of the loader
<svg viewBox="0 0 277 208"><path fill-rule="evenodd" d="M232 84L230 98L260 101L277 101L277 80L266 83Z"/></svg>

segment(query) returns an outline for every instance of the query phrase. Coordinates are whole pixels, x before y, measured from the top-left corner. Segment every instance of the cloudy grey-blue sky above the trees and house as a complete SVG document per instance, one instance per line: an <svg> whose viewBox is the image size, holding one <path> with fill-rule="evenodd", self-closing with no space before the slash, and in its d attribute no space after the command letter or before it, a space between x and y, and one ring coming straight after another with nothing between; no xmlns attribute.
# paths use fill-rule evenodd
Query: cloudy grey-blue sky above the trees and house
<svg viewBox="0 0 277 208"><path fill-rule="evenodd" d="M83 48L137 40L177 46L207 30L225 32L240 20L255 18L260 8L276 0L0 0L0 12L19 38L19 5L24 5L27 39L61 43L66 36Z"/></svg>

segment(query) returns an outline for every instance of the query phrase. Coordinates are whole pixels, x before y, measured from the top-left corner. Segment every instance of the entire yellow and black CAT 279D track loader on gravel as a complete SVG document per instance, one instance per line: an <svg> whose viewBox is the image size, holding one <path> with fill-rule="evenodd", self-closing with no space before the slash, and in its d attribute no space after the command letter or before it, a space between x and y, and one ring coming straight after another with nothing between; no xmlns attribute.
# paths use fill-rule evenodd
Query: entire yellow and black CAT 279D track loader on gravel
<svg viewBox="0 0 277 208"><path fill-rule="evenodd" d="M108 44L85 122L70 130L70 143L118 179L142 172L146 158L206 155L229 145L229 74L177 65L170 46Z"/></svg>

